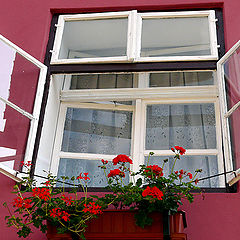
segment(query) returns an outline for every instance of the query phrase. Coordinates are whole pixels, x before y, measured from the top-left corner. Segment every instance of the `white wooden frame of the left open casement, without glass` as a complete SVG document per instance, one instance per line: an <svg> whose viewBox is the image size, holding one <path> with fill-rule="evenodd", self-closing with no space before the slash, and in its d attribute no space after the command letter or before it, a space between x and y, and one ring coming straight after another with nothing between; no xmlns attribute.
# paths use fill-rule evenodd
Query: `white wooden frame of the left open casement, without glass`
<svg viewBox="0 0 240 240"><path fill-rule="evenodd" d="M7 99L0 98L0 101L3 101L5 104L10 106L11 108L15 109L25 117L30 119L30 129L29 129L29 134L28 134L28 140L27 140L27 145L26 145L26 150L25 150L25 156L24 156L24 162L31 162L32 161L32 155L33 155L33 149L34 149L34 144L35 144L35 139L36 139L36 133L37 133L37 126L38 126L38 120L39 120L39 115L40 115L40 109L41 109L41 103L42 103L42 96L43 96L43 90L44 90L44 84L46 80L46 74L47 74L47 67L42 64L40 61L38 61L36 58L32 57L30 54L19 48L17 45L13 44L10 42L8 39L0 35L0 40L7 44L9 47L13 48L18 54L20 54L22 57L27 59L29 62L33 63L36 67L39 68L40 73L39 73L39 78L38 78L38 85L37 85L37 91L36 91L36 96L35 96L35 102L34 102L34 108L33 108L33 113L28 113L25 110L21 109L18 107L16 104L13 104L12 102L8 101ZM6 168L4 166L0 166L0 172L3 174L11 177L12 179L19 181L19 178L14 178L13 176L13 171L10 168ZM9 174L7 174L7 172ZM17 172L15 171L15 174L17 175Z"/></svg>

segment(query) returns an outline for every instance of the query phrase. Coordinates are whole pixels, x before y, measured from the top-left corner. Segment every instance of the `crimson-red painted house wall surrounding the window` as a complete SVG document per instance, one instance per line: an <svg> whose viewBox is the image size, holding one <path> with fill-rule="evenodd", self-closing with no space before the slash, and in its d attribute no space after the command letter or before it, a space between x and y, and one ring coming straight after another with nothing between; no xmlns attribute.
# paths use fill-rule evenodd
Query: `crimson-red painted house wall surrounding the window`
<svg viewBox="0 0 240 240"><path fill-rule="evenodd" d="M46 53L52 13L100 12L118 10L166 10L166 9L207 9L222 7L226 48L229 49L240 39L239 0L1 0L0 34L23 48L43 62ZM33 83L34 85L35 83ZM30 97L29 97L30 98ZM29 103L31 99L29 99ZM26 104L29 104L26 102ZM26 106L29 108L29 106ZM24 144L22 144L24 145ZM240 159L237 159L237 166ZM0 175L0 239L17 239L14 229L6 227L2 207L4 201L11 201L10 193L14 182ZM199 196L189 205L182 206L187 211L189 240L238 239L240 228L239 192L234 194L209 193L205 200ZM28 239L46 239L37 231Z"/></svg>

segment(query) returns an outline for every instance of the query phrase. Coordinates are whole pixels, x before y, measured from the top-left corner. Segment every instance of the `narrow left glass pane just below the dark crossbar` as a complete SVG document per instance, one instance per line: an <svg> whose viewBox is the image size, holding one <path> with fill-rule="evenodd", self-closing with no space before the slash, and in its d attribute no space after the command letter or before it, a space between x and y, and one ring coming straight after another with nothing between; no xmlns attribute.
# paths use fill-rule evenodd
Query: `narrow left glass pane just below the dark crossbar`
<svg viewBox="0 0 240 240"><path fill-rule="evenodd" d="M133 74L72 75L70 89L132 88Z"/></svg>

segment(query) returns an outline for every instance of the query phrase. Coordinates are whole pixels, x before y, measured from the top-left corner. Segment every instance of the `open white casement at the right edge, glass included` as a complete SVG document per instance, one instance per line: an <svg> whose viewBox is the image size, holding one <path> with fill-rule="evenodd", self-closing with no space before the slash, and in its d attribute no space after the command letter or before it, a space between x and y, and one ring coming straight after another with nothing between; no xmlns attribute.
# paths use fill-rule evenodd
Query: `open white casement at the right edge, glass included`
<svg viewBox="0 0 240 240"><path fill-rule="evenodd" d="M218 61L217 71L225 167L228 172L234 170L232 158L237 159L240 156L240 41Z"/></svg>

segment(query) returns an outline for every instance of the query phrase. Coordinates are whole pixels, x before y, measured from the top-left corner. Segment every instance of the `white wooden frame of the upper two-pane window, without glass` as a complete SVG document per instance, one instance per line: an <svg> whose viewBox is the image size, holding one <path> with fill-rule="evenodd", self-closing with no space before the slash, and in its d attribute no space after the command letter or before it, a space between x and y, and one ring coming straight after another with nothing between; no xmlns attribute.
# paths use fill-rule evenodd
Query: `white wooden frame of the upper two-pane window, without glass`
<svg viewBox="0 0 240 240"><path fill-rule="evenodd" d="M127 54L126 56L116 57L86 57L77 58L77 53L71 52L72 58L59 59L61 41L63 37L64 24L66 21L86 21L92 19L114 19L128 18L127 33ZM173 56L173 57L140 57L141 52L141 31L142 19L160 19L160 18L180 18L180 17L208 17L210 49L211 55L203 56ZM161 62L161 61L204 61L217 60L217 34L216 34L215 11L186 11L186 12L158 12L158 13L137 13L136 10L127 12L109 12L109 13L90 13L76 15L60 15L55 36L54 47L52 50L51 64L71 64L71 63L111 63L111 62ZM76 57L74 59L74 57Z"/></svg>

